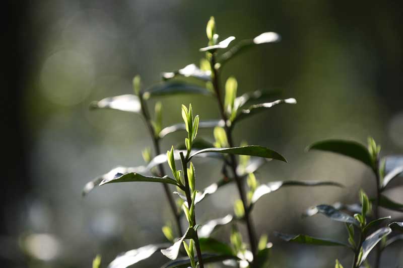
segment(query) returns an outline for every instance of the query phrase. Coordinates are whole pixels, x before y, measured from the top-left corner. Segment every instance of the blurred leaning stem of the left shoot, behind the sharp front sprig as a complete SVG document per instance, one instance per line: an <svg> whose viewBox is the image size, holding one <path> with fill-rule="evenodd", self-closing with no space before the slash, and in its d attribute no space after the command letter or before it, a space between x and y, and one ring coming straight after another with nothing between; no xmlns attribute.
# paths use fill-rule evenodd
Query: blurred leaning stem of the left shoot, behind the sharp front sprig
<svg viewBox="0 0 403 268"><path fill-rule="evenodd" d="M141 108L142 108L144 121L145 121L145 123L147 125L147 128L149 130L150 136L151 136L151 138L153 140L155 154L160 155L161 154L160 139L158 137L156 137L154 128L153 128L153 126L151 124L151 119L150 119L150 114L149 114L149 111L148 111L147 103L144 101L143 95L141 95L139 99L140 99L140 103L141 103ZM161 177L166 175L163 164L159 164L158 169L159 169L159 172L160 172L159 175ZM175 200L174 200L174 198L173 198L173 196L171 194L171 191L169 190L169 186L167 184L162 184L162 186L164 188L165 196L168 199L169 206L171 208L172 214L173 214L174 219L175 219L176 227L177 227L177 230L178 230L178 236L182 237L183 232L182 232L182 226L180 224L180 214L177 212Z"/></svg>

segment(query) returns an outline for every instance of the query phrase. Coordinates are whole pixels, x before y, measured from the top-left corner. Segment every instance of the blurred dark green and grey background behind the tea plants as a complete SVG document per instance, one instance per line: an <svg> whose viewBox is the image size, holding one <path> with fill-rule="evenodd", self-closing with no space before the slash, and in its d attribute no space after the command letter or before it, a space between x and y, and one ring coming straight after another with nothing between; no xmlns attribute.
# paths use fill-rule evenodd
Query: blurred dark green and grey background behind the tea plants
<svg viewBox="0 0 403 268"><path fill-rule="evenodd" d="M237 40L274 31L276 44L260 45L228 64L223 78L238 79L239 94L282 90L295 106L279 106L242 122L237 143L273 148L289 160L272 161L256 173L261 182L327 179L346 189L285 189L255 206L258 235L274 242L273 267L332 267L342 248L285 244L274 230L337 238L344 225L324 217L301 219L309 206L356 202L358 190L373 194L370 170L359 162L304 148L325 138L366 142L382 154L403 151L403 24L399 2L350 1L50 1L10 4L3 25L12 37L3 49L10 61L3 122L6 186L2 191L1 257L9 267L89 267L96 253L104 264L119 252L164 241L171 218L161 186L123 184L81 190L116 165L143 164L151 146L139 116L89 111L93 100L130 94L131 79L145 85L161 72L198 63L207 43L205 27L215 16L221 37ZM236 43L236 42L234 42ZM11 52L13 51L13 52ZM181 121L180 104L191 103L201 119L218 118L215 100L161 98L165 125ZM212 140L212 131L199 135ZM163 140L163 151L184 138ZM201 189L217 180L220 164L197 160ZM215 173L214 173L215 172ZM389 196L403 202L401 188ZM197 207L200 222L232 212L235 187L221 189ZM215 209L213 209L215 208ZM382 215L401 217L382 211ZM218 234L228 240L229 230ZM242 231L245 231L241 229ZM36 235L33 235L36 234ZM39 235L38 235L39 234ZM245 240L246 236L245 236ZM403 264L401 245L382 257L383 267ZM139 267L157 267L155 257Z"/></svg>

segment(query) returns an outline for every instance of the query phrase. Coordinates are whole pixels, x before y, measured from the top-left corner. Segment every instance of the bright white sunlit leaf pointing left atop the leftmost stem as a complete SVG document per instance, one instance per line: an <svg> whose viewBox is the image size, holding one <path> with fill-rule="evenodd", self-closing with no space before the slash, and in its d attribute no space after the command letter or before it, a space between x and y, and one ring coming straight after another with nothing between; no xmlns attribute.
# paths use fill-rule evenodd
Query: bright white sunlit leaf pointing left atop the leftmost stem
<svg viewBox="0 0 403 268"><path fill-rule="evenodd" d="M131 94L109 97L90 104L90 109L112 109L130 113L140 113L139 97Z"/></svg>

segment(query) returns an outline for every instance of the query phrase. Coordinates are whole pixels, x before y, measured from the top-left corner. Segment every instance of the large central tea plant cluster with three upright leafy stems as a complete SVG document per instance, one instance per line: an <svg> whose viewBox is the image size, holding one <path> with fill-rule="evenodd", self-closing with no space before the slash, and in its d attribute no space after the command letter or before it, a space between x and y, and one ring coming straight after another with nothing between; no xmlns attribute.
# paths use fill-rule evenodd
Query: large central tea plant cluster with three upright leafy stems
<svg viewBox="0 0 403 268"><path fill-rule="evenodd" d="M230 47L235 37L219 41L214 18L209 20L206 32L208 46L200 49L205 56L200 60L199 67L189 64L173 72L164 72L162 82L147 88L142 87L140 76L136 76L133 79L134 94L106 98L91 105L93 109L107 108L140 115L149 131L154 153L150 148L146 148L142 151L145 165L113 168L89 182L83 194L88 194L95 187L112 183L162 183L176 226L176 231L172 229L170 222L162 227L162 232L169 243L151 244L129 250L118 255L108 267L127 267L150 257L159 250L171 259L163 267L204 267L206 263L220 261L227 264L235 262L235 265L240 267L267 267L272 243L268 241L266 234L261 235L259 239L256 237L251 217L254 204L262 196L287 186L343 187L339 183L330 181L285 180L260 183L257 180L254 172L268 160L275 159L283 162L287 160L269 148L247 145L246 142L240 145L235 144L234 127L252 115L270 110L279 104L296 104L296 100L291 98L265 102L274 96L273 92L265 91L254 91L237 96L236 78L228 77L225 79L225 86L222 87L221 73L224 66L242 51L254 45L278 42L280 36L274 32L266 32ZM193 117L191 105L188 108L182 106L184 123L163 127L161 102L156 103L154 117L152 117L148 109L148 101L181 94L215 98L220 118L199 120L198 116ZM213 129L214 144L204 139L196 139L198 128ZM167 154L161 154L161 139L171 133L184 130L187 132L184 144L177 146L176 149L172 146ZM222 164L221 174L219 174L221 179L201 191L196 190L196 182L199 181L199 177L196 176L195 159L197 157L209 157ZM180 161L181 168L177 168L176 161ZM166 174L165 163L168 163L173 178ZM232 183L236 185L239 195L239 199L234 203L234 214L197 224L196 205L208 196L218 193L220 188ZM175 186L176 191L172 191L172 186ZM186 218L187 228L183 228L181 224L183 216ZM212 237L214 231L227 224L232 225L230 243ZM238 231L239 224L246 225L248 243L243 241ZM99 261L96 261L98 266Z"/></svg>

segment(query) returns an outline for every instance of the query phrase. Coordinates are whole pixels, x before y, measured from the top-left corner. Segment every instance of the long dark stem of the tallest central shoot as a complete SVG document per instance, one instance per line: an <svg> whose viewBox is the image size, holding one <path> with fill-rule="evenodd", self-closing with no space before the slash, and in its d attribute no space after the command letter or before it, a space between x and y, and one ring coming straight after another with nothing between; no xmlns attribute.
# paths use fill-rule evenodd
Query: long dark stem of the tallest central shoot
<svg viewBox="0 0 403 268"><path fill-rule="evenodd" d="M232 139L232 127L228 126L228 124L227 124L228 118L225 114L225 110L224 110L225 108L224 108L222 97L221 97L219 73L218 73L217 68L215 67L215 65L216 65L215 54L211 55L210 64L211 64L211 69L212 69L213 87L214 87L214 91L217 96L217 101L218 101L218 105L219 105L221 118L224 120L224 129L225 129L225 133L227 134L228 144L230 147L234 147L234 142ZM251 251L253 254L253 259L255 259L256 253L257 253L256 252L256 237L254 234L254 227L253 227L252 219L249 215L249 209L248 209L248 204L247 204L247 200L246 200L246 196L245 196L245 190L244 190L244 187L242 184L242 180L236 172L238 164L237 164L236 158L233 154L230 154L230 160L231 160L230 167L234 174L236 186L238 188L239 196L241 198L242 205L243 205L243 208L245 211L245 221L246 221L246 228L247 228L248 236L249 236L250 248L251 248Z"/></svg>

